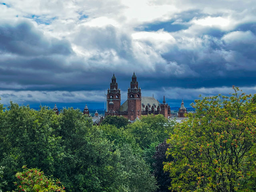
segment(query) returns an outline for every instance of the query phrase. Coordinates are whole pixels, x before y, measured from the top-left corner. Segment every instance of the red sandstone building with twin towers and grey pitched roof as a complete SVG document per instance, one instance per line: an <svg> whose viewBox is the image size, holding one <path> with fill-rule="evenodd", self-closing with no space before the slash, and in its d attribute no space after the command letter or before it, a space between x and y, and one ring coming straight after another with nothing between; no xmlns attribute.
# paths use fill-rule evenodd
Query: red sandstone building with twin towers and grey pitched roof
<svg viewBox="0 0 256 192"><path fill-rule="evenodd" d="M181 108L178 112L178 117L184 117L186 113L184 102L182 100ZM162 114L165 118L171 116L170 106L166 103L165 98L162 103L158 102L154 97L141 96L141 88L138 86L138 81L135 73L132 75L132 81L127 91L127 100L121 105L121 92L116 82L116 77L113 74L110 89L107 93L107 109L105 116L124 116L130 121L140 118L142 115Z"/></svg>

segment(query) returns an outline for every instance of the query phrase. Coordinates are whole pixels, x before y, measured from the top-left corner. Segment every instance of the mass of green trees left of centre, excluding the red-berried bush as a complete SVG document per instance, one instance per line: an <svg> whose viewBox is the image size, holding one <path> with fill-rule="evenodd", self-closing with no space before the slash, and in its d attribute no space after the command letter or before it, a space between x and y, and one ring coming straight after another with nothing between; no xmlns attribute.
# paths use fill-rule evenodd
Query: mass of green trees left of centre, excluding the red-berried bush
<svg viewBox="0 0 256 192"><path fill-rule="evenodd" d="M123 129L93 126L73 108L59 116L46 107L36 111L13 102L8 110L1 104L0 109L0 166L5 166L3 182L8 184L3 191L14 190L15 174L24 172L24 164L60 178L68 192L156 189L142 150Z"/></svg>

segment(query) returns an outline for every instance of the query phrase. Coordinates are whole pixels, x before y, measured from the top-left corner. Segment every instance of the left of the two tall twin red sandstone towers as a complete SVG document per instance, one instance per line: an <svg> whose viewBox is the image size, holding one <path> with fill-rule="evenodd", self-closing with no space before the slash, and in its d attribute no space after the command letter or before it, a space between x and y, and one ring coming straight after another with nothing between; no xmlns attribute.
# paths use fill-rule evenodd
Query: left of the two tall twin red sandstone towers
<svg viewBox="0 0 256 192"><path fill-rule="evenodd" d="M118 111L121 106L121 93L118 89L115 74L113 74L107 94L107 111Z"/></svg>

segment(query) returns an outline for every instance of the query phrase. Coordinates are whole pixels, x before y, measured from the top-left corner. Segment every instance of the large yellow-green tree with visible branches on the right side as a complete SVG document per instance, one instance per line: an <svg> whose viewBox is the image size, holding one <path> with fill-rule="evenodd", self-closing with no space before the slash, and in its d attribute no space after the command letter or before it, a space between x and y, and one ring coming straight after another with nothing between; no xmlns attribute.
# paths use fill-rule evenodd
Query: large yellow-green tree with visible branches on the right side
<svg viewBox="0 0 256 192"><path fill-rule="evenodd" d="M202 97L168 143L170 190L255 191L256 104L236 87L231 96Z"/></svg>

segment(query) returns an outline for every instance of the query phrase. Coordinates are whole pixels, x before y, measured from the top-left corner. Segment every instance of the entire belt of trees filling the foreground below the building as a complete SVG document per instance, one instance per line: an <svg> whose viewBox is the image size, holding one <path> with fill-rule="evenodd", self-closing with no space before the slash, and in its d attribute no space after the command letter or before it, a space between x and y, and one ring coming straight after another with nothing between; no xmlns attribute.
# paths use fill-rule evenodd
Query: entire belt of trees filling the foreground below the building
<svg viewBox="0 0 256 192"><path fill-rule="evenodd" d="M256 191L256 96L200 97L175 124L0 105L0 192Z"/></svg>

